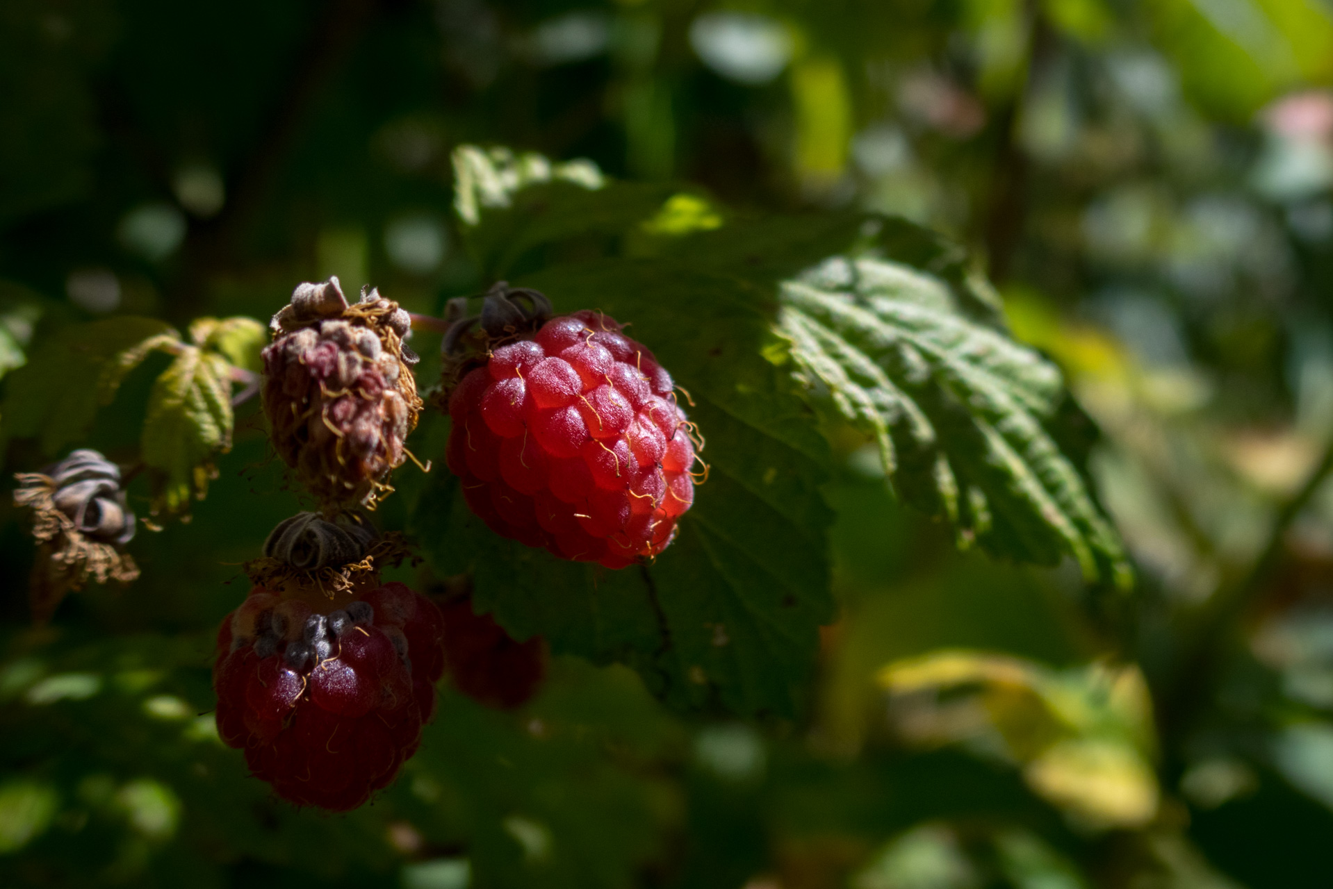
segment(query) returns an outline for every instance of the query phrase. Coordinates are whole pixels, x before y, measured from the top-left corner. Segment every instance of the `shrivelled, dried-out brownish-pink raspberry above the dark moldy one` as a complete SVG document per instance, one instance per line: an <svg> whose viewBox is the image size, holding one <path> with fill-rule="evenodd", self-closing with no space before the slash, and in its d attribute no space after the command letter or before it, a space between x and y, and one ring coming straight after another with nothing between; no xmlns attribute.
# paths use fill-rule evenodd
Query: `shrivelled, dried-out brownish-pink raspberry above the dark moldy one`
<svg viewBox="0 0 1333 889"><path fill-rule="evenodd" d="M348 305L336 277L301 284L264 349L272 441L327 509L373 508L421 411L408 313L377 291Z"/></svg>

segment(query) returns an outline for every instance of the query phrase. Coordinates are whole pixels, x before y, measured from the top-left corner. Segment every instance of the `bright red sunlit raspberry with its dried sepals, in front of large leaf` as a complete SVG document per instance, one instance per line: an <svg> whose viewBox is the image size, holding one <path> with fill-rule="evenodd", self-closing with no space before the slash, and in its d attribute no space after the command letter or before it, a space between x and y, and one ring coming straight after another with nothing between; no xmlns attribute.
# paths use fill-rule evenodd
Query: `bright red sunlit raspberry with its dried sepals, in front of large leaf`
<svg viewBox="0 0 1333 889"><path fill-rule="evenodd" d="M665 549L702 446L653 353L600 312L504 281L444 337L449 469L496 533L625 568Z"/></svg>

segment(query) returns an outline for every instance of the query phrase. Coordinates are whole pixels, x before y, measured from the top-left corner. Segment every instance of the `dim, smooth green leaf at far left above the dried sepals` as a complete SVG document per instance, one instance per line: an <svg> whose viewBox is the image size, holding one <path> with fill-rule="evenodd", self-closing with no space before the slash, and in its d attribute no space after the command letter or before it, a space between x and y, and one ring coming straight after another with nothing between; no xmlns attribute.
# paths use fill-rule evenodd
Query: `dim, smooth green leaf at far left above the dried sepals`
<svg viewBox="0 0 1333 889"><path fill-rule="evenodd" d="M9 375L4 437L36 437L43 452L57 453L87 435L97 409L149 352L176 348L180 335L156 319L124 316L60 331Z"/></svg>

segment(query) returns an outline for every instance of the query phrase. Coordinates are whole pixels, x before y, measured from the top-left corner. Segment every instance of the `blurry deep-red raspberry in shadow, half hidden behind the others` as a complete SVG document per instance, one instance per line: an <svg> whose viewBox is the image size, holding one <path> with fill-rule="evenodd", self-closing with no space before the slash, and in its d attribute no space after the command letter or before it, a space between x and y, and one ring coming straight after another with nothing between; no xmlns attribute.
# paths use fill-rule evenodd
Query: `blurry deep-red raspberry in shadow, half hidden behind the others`
<svg viewBox="0 0 1333 889"><path fill-rule="evenodd" d="M480 704L512 709L525 704L547 674L547 645L540 636L516 642L489 614L473 614L461 598L444 613L444 660L453 685Z"/></svg>

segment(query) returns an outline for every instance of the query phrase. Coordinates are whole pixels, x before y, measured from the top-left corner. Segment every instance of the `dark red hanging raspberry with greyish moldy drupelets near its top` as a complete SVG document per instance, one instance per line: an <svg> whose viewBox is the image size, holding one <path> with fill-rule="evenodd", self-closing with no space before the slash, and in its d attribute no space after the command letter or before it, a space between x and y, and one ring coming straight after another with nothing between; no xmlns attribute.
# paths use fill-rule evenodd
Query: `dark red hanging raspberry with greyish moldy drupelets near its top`
<svg viewBox="0 0 1333 889"><path fill-rule="evenodd" d="M217 733L297 805L355 809L435 713L444 618L403 584L327 598L256 586L217 630Z"/></svg>

